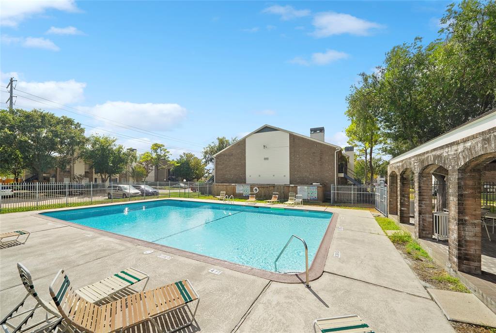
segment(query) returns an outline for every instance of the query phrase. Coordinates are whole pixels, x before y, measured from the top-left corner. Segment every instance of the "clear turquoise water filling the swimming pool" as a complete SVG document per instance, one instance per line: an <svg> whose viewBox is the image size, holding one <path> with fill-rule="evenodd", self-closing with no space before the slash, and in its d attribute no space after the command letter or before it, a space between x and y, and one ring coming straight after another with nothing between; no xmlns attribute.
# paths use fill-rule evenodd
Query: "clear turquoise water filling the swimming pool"
<svg viewBox="0 0 496 333"><path fill-rule="evenodd" d="M309 265L332 216L270 207L179 200L46 212L43 215L142 239L229 262L270 271L304 271L305 251L292 234L305 239Z"/></svg>

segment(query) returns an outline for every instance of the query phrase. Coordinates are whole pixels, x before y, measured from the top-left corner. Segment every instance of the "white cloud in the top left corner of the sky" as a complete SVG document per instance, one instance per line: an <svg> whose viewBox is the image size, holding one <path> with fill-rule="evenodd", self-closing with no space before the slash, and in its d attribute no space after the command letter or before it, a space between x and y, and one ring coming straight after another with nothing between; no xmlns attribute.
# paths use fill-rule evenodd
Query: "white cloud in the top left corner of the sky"
<svg viewBox="0 0 496 333"><path fill-rule="evenodd" d="M75 0L2 0L0 2L0 24L16 27L21 21L35 14L44 13L48 9L78 11Z"/></svg>

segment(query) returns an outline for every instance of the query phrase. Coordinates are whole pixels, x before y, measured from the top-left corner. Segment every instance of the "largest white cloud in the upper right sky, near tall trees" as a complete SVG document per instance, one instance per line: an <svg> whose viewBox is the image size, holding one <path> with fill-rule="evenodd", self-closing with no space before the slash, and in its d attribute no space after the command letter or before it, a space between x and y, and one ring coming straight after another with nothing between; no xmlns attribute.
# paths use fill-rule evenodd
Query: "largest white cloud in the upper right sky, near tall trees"
<svg viewBox="0 0 496 333"><path fill-rule="evenodd" d="M312 24L315 27L315 31L311 35L317 38L341 34L367 36L371 33L371 30L382 27L382 25L375 22L333 11L315 14Z"/></svg>

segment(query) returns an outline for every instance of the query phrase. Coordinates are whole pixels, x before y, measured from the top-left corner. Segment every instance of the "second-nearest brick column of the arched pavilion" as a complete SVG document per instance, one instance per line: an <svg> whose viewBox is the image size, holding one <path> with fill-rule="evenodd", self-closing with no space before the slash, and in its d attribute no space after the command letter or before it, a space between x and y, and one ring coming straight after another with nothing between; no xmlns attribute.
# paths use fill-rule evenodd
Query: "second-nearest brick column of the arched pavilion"
<svg viewBox="0 0 496 333"><path fill-rule="evenodd" d="M433 194L432 173L415 174L415 237L432 238Z"/></svg>

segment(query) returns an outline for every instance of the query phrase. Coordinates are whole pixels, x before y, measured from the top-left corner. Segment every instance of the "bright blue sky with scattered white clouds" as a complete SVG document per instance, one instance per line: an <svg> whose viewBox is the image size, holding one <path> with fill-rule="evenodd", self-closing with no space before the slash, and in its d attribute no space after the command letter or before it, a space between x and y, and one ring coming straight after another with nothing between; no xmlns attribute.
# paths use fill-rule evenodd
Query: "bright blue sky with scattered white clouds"
<svg viewBox="0 0 496 333"><path fill-rule="evenodd" d="M358 74L438 38L448 3L2 0L1 102L13 76L15 107L173 158L264 124L345 146Z"/></svg>

